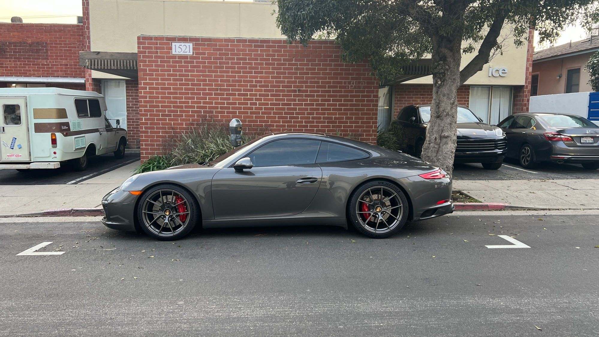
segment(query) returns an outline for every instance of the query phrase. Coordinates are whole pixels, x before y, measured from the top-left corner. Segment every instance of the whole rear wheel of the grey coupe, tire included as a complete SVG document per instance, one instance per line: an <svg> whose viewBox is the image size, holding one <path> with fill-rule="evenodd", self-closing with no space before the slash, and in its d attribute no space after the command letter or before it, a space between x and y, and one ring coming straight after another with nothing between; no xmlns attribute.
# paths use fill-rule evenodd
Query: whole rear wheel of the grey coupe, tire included
<svg viewBox="0 0 599 337"><path fill-rule="evenodd" d="M381 192L378 192L379 189ZM374 190L374 192L373 192ZM365 194L367 193L367 194ZM372 194L370 194L372 193ZM392 193L397 195L392 196ZM381 198L380 195L383 197ZM388 206L385 207L385 197L388 197ZM391 199L392 197L392 199ZM362 199L361 199L362 198ZM373 212L365 212L364 210L358 210L358 203L364 202L367 204L367 201L373 201L372 204L369 204L373 208ZM394 204L399 204L401 202L401 207L394 206ZM362 204L361 204L362 205ZM374 212L377 207L383 207L381 210ZM391 210L394 207L395 210ZM386 209L390 209L387 211ZM359 213L358 213L359 212ZM409 213L409 204L406 198L406 195L402 192L402 190L395 186L395 184L389 183L389 181L385 180L374 180L369 181L368 183L362 184L358 186L349 197L349 205L347 207L347 219L353 226L358 230L358 232L370 236L371 238L388 238L389 236L394 235L399 232L401 228L406 224L406 220ZM359 215L359 214L370 214L367 215ZM376 215L375 215L376 214ZM359 218L362 216L364 218ZM377 219L377 224L374 223L374 218ZM385 218L386 217L386 218ZM388 224L388 221L394 221L391 225ZM380 222L383 220L383 222ZM383 223L386 225L387 229L383 226ZM379 225L381 229L379 230ZM375 227L376 226L376 227ZM374 228L373 228L374 227Z"/></svg>

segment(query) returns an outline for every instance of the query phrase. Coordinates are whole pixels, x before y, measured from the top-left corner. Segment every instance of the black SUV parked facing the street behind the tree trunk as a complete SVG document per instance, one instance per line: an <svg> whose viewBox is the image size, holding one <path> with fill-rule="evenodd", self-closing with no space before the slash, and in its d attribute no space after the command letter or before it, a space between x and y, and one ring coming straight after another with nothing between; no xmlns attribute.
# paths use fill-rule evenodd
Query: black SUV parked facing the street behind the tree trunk
<svg viewBox="0 0 599 337"><path fill-rule="evenodd" d="M397 127L403 135L401 150L420 157L431 119L431 105L408 105L397 114ZM506 156L506 134L497 126L482 122L470 109L458 105L458 147L456 163L482 163L483 168L498 169Z"/></svg>

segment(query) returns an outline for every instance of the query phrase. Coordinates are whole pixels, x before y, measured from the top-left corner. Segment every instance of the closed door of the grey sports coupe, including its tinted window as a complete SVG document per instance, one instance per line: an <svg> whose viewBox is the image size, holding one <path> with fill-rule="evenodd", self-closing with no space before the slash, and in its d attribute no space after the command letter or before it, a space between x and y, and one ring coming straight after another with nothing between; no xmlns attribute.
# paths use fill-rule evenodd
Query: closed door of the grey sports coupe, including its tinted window
<svg viewBox="0 0 599 337"><path fill-rule="evenodd" d="M223 168L212 178L214 217L282 217L304 211L316 195L322 169L320 141L276 139L248 154L253 168Z"/></svg>

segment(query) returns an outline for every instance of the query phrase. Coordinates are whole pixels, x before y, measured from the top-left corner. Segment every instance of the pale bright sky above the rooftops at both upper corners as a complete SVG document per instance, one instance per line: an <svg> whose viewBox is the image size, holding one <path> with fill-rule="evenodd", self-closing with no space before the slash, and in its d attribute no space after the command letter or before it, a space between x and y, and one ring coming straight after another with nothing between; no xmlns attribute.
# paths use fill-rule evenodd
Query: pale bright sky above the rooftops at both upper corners
<svg viewBox="0 0 599 337"><path fill-rule="evenodd" d="M20 16L25 23L77 23L77 16L81 15L81 0L0 0L0 22L10 22L11 17ZM552 45L579 41L587 34L580 25L568 26ZM536 50L552 45L540 45L535 38Z"/></svg>

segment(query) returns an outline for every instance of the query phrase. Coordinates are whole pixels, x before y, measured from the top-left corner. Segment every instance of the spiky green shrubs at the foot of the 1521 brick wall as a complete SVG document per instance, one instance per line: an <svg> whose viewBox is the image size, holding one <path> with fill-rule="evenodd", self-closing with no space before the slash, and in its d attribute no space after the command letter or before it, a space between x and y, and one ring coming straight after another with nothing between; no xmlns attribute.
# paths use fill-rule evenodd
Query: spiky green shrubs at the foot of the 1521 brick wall
<svg viewBox="0 0 599 337"><path fill-rule="evenodd" d="M264 135L267 129L249 130L241 136L241 144ZM135 173L158 171L190 163L203 164L233 150L229 142L229 128L224 123L199 122L186 130L174 131L164 145L165 154L143 162Z"/></svg>

